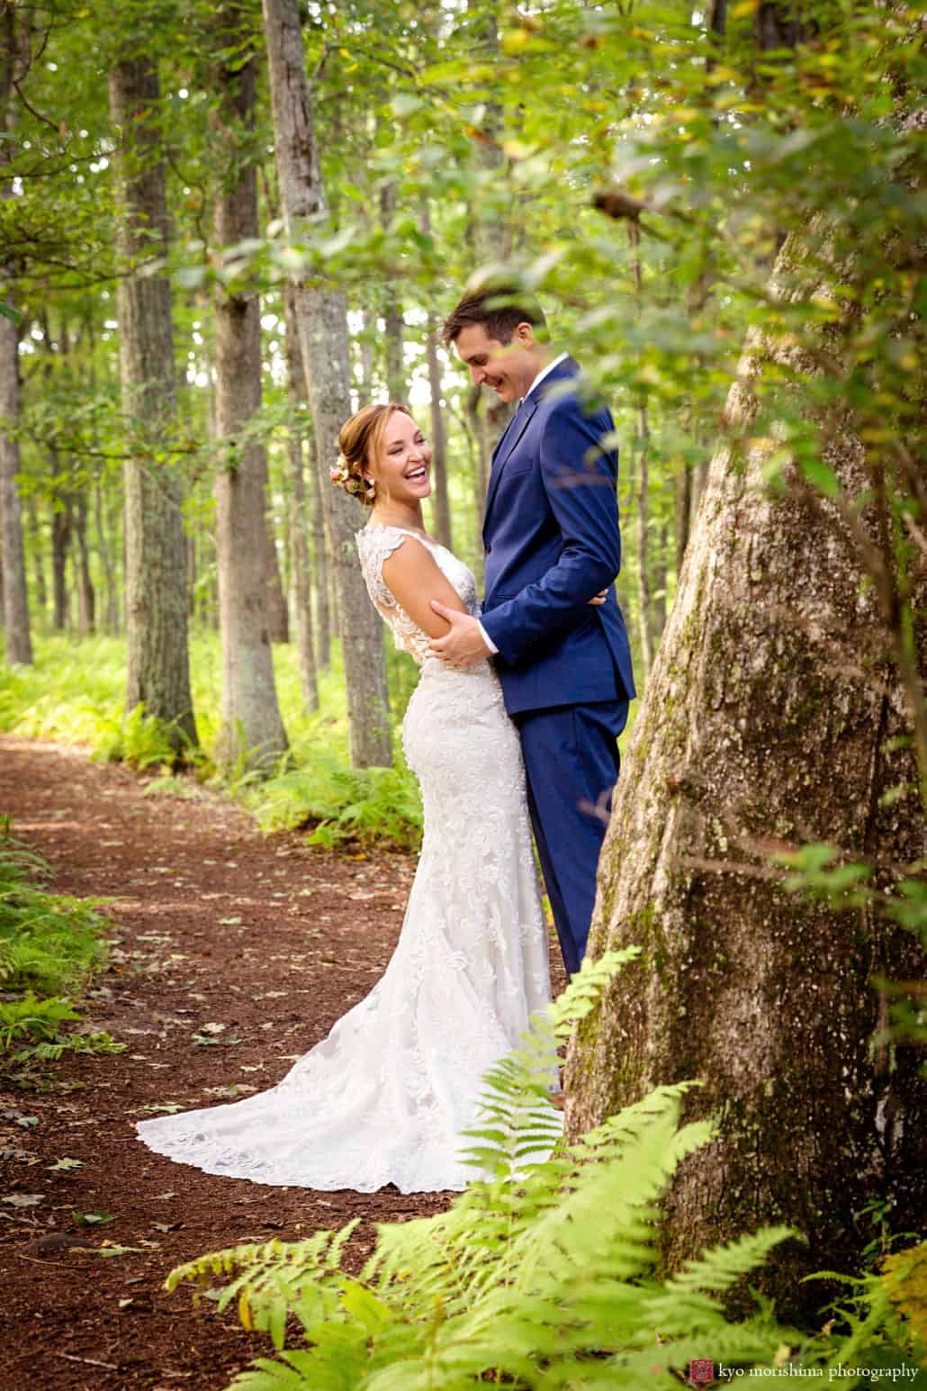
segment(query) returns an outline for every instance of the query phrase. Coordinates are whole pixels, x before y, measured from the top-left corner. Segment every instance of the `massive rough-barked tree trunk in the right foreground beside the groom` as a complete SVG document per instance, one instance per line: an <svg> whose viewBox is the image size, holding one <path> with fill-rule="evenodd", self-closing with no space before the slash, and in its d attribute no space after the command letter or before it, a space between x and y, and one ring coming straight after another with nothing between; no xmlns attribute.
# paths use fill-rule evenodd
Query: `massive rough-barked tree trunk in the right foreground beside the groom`
<svg viewBox="0 0 927 1391"><path fill-rule="evenodd" d="M763 359L802 370L785 352L748 341L727 408L738 434ZM862 451L845 423L831 440L856 497ZM703 1082L691 1114L717 1116L719 1139L674 1182L667 1262L794 1224L807 1248L781 1248L762 1280L788 1316L820 1299L801 1276L852 1264L867 1200L894 1203L898 1231L923 1216L924 1084L913 1049L889 1068L871 1046L873 982L912 978L913 939L787 893L766 851L826 842L891 889L924 829L916 797L884 798L916 778L910 711L855 542L831 504L771 497L766 462L762 440L712 459L599 871L591 954L643 954L580 1031L567 1089L575 1134L657 1084Z"/></svg>

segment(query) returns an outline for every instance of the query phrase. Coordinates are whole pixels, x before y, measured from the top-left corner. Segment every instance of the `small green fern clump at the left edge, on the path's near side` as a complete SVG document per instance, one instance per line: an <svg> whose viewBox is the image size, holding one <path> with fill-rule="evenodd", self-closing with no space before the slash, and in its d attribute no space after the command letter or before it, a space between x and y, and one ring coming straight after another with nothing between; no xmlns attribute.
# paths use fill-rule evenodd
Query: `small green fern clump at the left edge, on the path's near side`
<svg viewBox="0 0 927 1391"><path fill-rule="evenodd" d="M49 893L49 875L0 818L0 1054L8 1063L122 1047L107 1034L65 1031L81 1021L75 1000L106 961L110 924L97 911L103 900Z"/></svg>

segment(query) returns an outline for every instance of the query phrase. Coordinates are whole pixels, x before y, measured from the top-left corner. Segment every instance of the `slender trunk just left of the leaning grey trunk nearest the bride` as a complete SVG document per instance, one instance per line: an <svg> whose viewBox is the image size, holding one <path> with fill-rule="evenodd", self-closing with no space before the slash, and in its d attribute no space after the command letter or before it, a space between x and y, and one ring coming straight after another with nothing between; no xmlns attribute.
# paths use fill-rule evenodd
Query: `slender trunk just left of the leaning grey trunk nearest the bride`
<svg viewBox="0 0 927 1391"><path fill-rule="evenodd" d="M289 374L289 401L292 423L286 441L289 458L289 479L292 504L289 509L289 547L293 608L296 612L296 647L299 652L299 677L306 709L318 709L318 679L315 676L315 643L313 636L313 586L306 541L306 473L303 462L303 435L300 421L304 413L299 408L306 401L306 373L299 351L299 332L293 313L293 292L288 285L284 291L284 316L286 328L286 369Z"/></svg>

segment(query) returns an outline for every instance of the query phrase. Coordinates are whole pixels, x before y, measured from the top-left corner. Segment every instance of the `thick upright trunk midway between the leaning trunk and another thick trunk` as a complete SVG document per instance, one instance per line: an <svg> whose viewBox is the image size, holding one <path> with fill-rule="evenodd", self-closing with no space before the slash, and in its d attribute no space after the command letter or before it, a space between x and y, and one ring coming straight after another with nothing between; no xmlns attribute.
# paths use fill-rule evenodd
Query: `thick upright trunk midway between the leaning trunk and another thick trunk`
<svg viewBox="0 0 927 1391"><path fill-rule="evenodd" d="M217 45L236 51L239 6L220 11ZM213 209L217 246L238 246L257 236L254 166L242 159L240 143L254 125L256 63L240 61L215 71L220 104L214 134L228 167ZM268 570L277 577L277 556L268 556L267 456L249 427L261 409L261 320L254 291L215 288L215 474L220 633L222 640L222 725L218 762L229 769L242 761L270 771L286 751L286 733L277 701L270 634ZM260 558L263 556L263 563ZM259 563L254 559L259 558ZM279 586L279 579L277 577Z"/></svg>

